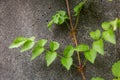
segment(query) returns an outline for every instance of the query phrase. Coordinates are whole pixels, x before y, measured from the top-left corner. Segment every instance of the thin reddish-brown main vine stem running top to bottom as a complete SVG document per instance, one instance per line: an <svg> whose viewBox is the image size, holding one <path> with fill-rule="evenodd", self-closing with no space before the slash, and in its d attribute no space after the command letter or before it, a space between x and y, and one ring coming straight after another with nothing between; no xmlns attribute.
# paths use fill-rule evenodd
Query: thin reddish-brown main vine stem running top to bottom
<svg viewBox="0 0 120 80"><path fill-rule="evenodd" d="M72 39L74 40L75 46L77 46L78 41L77 41L77 37L76 37L75 27L73 26L73 23L72 23L72 17L71 17L70 6L69 6L69 1L68 0L66 0L66 5L67 5L68 16L69 16L69 19L70 19L71 36L72 36ZM77 23L78 23L78 21L77 21ZM78 63L79 63L79 66L80 66L79 69L80 69L80 72L81 72L81 75L82 75L82 79L86 80L86 77L85 77L85 74L84 74L84 71L83 71L83 66L81 64L81 59L80 59L80 53L79 52L77 52L77 57L78 57Z"/></svg>

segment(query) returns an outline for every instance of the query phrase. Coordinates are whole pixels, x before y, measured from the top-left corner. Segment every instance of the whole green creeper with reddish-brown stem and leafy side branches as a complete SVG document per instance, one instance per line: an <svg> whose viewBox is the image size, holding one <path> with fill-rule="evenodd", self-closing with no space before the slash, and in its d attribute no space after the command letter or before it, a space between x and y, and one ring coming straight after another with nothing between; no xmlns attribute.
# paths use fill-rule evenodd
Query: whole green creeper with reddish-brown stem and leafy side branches
<svg viewBox="0 0 120 80"><path fill-rule="evenodd" d="M86 2L87 0L84 0L83 2L80 2L78 5L74 7L75 13L74 16L76 17L75 25L73 25L72 22L68 0L66 0L68 14L62 10L57 11L56 14L52 16L51 21L47 25L48 28L51 29L53 24L61 25L63 23L67 23L67 26L70 28L70 34L75 45L66 46L63 52L61 52L63 54L59 54L57 52L57 50L60 47L60 44L58 42L56 41L49 42L49 49L46 49L45 45L47 44L48 41L46 39L40 39L38 41L35 41L35 37L30 38L17 37L9 46L9 48L12 49L21 47L20 52L25 52L32 49L31 60L36 59L42 53L46 53L45 60L47 66L50 66L57 57L60 57L60 63L63 65L63 67L65 67L67 70L70 70L72 65L75 66L80 71L82 79L86 80L84 74L84 66L86 62L81 63L80 53L84 54L85 59L87 61L94 64L97 54L104 55L105 41L112 44L116 44L115 31L120 27L120 19L118 18L109 22L103 22L101 25L103 31L97 29L89 33L90 37L93 39L93 43L91 46L84 43L78 44L76 37L76 27L78 26L80 12L84 5L86 4ZM77 53L78 64L73 63L72 56L75 55L74 53ZM118 74L116 75L114 73L114 76L119 78ZM104 80L104 79L96 77L92 78L91 80Z"/></svg>

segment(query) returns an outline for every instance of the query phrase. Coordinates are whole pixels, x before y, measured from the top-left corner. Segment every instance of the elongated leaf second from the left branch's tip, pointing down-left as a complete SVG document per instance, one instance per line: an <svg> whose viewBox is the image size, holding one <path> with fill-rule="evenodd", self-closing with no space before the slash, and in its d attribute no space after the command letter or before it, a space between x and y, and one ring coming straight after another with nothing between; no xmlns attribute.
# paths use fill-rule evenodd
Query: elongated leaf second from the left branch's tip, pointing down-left
<svg viewBox="0 0 120 80"><path fill-rule="evenodd" d="M34 46L34 44L35 44L34 41L27 40L27 41L23 44L20 52L24 52L24 51L27 51L27 50L31 49L31 48Z"/></svg>

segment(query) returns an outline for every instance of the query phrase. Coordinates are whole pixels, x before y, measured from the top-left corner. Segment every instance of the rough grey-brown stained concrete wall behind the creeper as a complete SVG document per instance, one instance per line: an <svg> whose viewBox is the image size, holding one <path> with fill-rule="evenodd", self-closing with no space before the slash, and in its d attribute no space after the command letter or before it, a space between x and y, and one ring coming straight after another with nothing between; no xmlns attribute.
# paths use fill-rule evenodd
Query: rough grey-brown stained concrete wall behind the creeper
<svg viewBox="0 0 120 80"><path fill-rule="evenodd" d="M70 0L71 8L80 0ZM54 25L53 32L46 27L51 15L57 10L66 10L64 0L0 0L0 80L81 80L74 67L70 71L56 60L46 67L44 54L30 61L31 51L21 54L19 49L8 49L17 36L35 36L36 40L45 38L60 42L62 49L71 44L65 25ZM120 1L88 0L80 15L79 43L91 44L88 34L100 28L103 21L120 17ZM120 58L119 31L116 33L118 44L106 44L105 56L98 55L94 65L87 63L86 77L100 76L112 80L111 65Z"/></svg>

